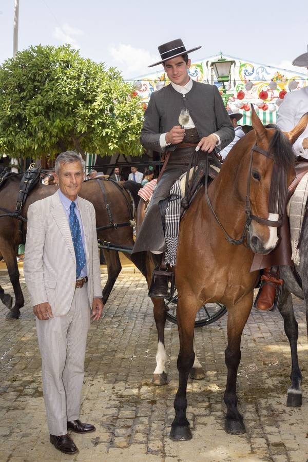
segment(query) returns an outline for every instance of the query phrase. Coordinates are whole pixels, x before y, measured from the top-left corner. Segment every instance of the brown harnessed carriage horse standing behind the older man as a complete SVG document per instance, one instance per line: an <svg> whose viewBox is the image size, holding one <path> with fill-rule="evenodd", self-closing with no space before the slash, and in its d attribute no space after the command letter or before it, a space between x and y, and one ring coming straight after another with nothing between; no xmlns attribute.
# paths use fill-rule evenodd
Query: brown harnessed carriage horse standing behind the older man
<svg viewBox="0 0 308 462"><path fill-rule="evenodd" d="M5 294L0 286L0 300L10 309L6 319L17 319L20 316L20 309L24 306L24 296L20 285L20 274L16 261L16 248L24 242L27 230L27 223L16 218L1 217L5 210L14 211L18 196L18 189L22 174L12 174L4 180L0 188L0 260L4 259L11 284L15 295L15 304L12 306L12 297ZM127 189L130 189L130 182L126 182ZM38 183L27 197L22 210L22 216L27 217L27 210L30 204L54 194L57 186L49 186ZM134 192L134 191L132 191ZM119 187L109 180L88 180L82 185L80 196L92 202L95 208L97 227L105 227L110 223L129 223L132 219L132 205L130 195L126 189ZM109 214L106 204L109 204ZM5 209L5 210L3 210ZM131 247L133 245L133 228L130 225L123 227L110 227L98 230L98 238L109 241L116 245ZM54 249L56 252L56 248ZM121 271L119 253L117 251L103 251L107 264L108 279L103 289L103 301L107 301L112 287Z"/></svg>

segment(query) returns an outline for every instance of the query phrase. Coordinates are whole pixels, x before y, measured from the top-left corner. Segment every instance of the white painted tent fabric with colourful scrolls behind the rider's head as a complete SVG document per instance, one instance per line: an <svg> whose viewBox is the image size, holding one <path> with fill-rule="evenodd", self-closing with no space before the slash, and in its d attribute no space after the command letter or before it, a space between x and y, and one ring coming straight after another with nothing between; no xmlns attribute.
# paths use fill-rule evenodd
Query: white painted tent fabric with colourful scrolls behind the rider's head
<svg viewBox="0 0 308 462"><path fill-rule="evenodd" d="M191 64L189 69L191 79L217 85L222 91L222 84L217 82L215 73L210 67L210 63L220 57L221 55L210 56ZM251 104L254 104L264 124L275 123L277 109L285 93L297 91L308 85L307 75L301 72L248 62L233 56L222 55L222 57L235 61L231 69L230 81L225 84L225 88L229 94L227 109L243 114L243 118L239 121L241 125L251 125ZM145 107L151 92L169 83L164 69L161 68L157 72L136 78L134 87L136 94L145 103Z"/></svg>

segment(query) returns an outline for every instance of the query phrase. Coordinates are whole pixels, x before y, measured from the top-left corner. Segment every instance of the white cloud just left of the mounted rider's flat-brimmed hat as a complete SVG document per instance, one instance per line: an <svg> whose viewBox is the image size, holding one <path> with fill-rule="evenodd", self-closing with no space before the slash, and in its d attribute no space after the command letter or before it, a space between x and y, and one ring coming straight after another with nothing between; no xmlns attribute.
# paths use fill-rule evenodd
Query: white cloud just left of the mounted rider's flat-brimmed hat
<svg viewBox="0 0 308 462"><path fill-rule="evenodd" d="M134 48L131 45L119 44L113 46L109 52L115 65L128 77L146 74L148 65L159 61L159 55L151 55L147 50Z"/></svg>

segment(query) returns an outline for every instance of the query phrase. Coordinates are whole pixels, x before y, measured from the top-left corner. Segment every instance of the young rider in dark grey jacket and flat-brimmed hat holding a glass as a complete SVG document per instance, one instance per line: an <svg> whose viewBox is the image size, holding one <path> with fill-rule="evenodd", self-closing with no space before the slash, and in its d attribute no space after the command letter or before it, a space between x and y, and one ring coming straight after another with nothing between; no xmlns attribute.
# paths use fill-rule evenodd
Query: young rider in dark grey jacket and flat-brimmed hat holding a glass
<svg viewBox="0 0 308 462"><path fill-rule="evenodd" d="M167 159L131 255L144 275L148 251L157 268L166 268L161 216L166 210L171 186L187 171L195 150L200 149L200 156L206 156L205 153L216 146L221 149L227 146L235 136L218 88L190 79L188 53L199 48L186 50L178 38L159 46L161 61L149 66L163 64L171 84L151 94L140 138L145 149L163 152ZM181 126L178 119L182 109L189 110L189 119ZM149 295L166 297L167 288L168 278L162 273L151 285Z"/></svg>

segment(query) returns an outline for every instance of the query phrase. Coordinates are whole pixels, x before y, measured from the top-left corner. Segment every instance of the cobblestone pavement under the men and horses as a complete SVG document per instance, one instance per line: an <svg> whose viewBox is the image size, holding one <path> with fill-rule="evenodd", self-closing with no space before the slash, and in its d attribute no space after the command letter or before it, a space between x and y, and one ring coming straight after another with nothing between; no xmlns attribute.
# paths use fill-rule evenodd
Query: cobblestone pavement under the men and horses
<svg viewBox="0 0 308 462"><path fill-rule="evenodd" d="M12 293L6 274L1 284ZM106 275L102 275L103 282ZM157 334L145 280L121 274L100 323L88 335L81 419L97 431L74 435L80 452L68 456L49 443L42 396L41 358L25 282L26 305L6 321L0 302L0 461L257 461L305 462L308 457L307 340L303 303L296 301L303 406L287 408L290 349L279 313L253 311L244 330L238 373L247 433L227 435L222 400L226 382L226 320L196 331L206 378L188 382L190 441L168 437L177 391L178 333L166 324L169 384L151 384Z"/></svg>

